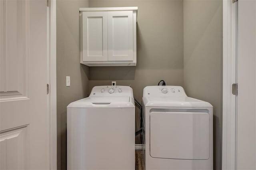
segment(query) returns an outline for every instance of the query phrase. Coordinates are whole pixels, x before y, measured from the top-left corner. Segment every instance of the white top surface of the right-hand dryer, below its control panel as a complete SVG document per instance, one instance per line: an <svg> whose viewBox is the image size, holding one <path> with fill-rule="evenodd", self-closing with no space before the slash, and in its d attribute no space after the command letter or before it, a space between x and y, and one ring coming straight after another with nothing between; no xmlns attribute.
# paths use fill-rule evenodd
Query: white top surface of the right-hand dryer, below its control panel
<svg viewBox="0 0 256 170"><path fill-rule="evenodd" d="M150 107L212 107L206 101L191 97L143 97L145 106Z"/></svg>

